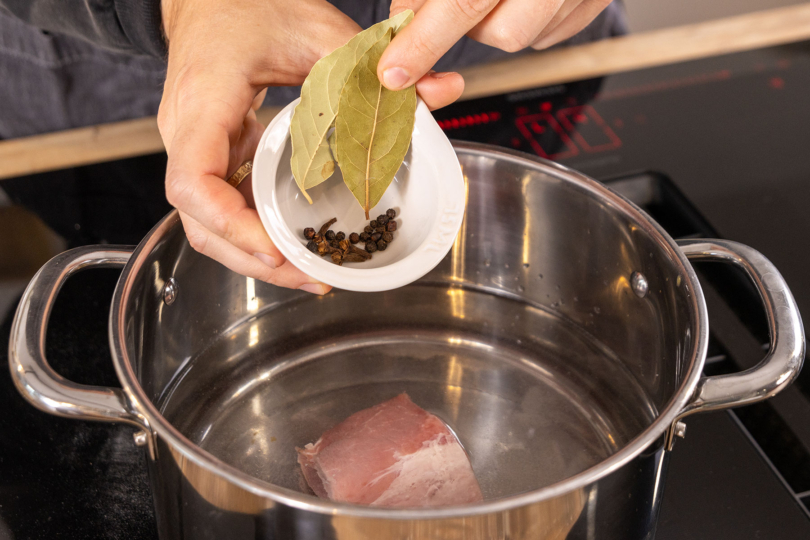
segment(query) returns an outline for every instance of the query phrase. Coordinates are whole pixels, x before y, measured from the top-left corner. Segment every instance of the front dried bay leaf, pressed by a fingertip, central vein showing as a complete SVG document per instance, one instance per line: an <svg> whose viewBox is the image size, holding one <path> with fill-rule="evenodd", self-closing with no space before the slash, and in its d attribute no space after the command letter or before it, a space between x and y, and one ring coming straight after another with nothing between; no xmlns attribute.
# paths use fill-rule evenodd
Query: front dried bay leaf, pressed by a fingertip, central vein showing
<svg viewBox="0 0 810 540"><path fill-rule="evenodd" d="M388 31L360 59L340 94L335 146L343 181L366 212L383 196L411 144L416 89L380 84L377 64L391 42Z"/></svg>

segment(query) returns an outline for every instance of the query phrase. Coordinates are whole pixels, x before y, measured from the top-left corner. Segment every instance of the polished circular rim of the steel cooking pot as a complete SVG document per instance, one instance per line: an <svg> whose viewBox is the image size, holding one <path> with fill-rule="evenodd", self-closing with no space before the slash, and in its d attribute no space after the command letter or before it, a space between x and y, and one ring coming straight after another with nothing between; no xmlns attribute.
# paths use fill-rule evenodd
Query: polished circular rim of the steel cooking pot
<svg viewBox="0 0 810 540"><path fill-rule="evenodd" d="M457 153L480 155L482 157L497 157L513 162L519 161L527 167L543 169L543 172L556 176L561 180L574 181L579 189L602 199L606 205L617 208L634 217L636 221L643 226L646 232L658 240L659 246L669 252L673 261L679 263L679 270L685 278L682 286L685 287L687 291L691 288L691 294L687 294L687 298L689 299L689 310L693 320L693 326L690 329L694 332L695 338L693 339L686 377L683 379L680 387L669 400L664 410L646 429L615 454L565 480L526 493L464 506L448 506L433 509L391 509L336 503L323 501L312 495L306 495L294 490L275 486L269 482L254 478L198 447L172 426L163 415L160 414L157 407L155 407L146 396L143 388L141 388L136 374L132 369L132 364L129 361L128 351L123 347L126 328L122 314L125 313L127 304L131 298L134 277L140 272L145 257L152 251L166 231L173 227L179 220L177 211L175 210L158 223L135 249L121 273L110 309L110 349L115 370L130 402L139 415L141 415L151 427L153 436L160 436L185 459L239 486L245 491L290 507L331 515L378 519L427 520L507 511L584 488L624 466L643 452L645 448L654 443L659 437L664 435L685 409L695 392L698 379L703 371L709 334L708 314L703 291L692 265L681 252L678 245L661 226L643 210L618 193L611 191L603 184L584 174L539 157L496 146L459 141L453 141L453 146ZM168 459L168 456L161 456L158 459Z"/></svg>

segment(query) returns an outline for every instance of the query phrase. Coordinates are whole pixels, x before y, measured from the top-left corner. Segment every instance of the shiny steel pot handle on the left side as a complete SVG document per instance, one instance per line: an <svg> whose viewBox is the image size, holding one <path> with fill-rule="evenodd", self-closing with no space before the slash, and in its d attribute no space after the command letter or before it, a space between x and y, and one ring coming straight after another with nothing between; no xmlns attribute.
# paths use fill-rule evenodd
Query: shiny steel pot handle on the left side
<svg viewBox="0 0 810 540"><path fill-rule="evenodd" d="M123 267L132 255L126 246L86 246L57 255L40 268L20 300L11 327L9 366L17 390L36 408L67 418L124 422L146 433L136 442L154 448L147 420L138 414L120 388L68 381L45 358L45 334L59 289L72 274L90 267Z"/></svg>

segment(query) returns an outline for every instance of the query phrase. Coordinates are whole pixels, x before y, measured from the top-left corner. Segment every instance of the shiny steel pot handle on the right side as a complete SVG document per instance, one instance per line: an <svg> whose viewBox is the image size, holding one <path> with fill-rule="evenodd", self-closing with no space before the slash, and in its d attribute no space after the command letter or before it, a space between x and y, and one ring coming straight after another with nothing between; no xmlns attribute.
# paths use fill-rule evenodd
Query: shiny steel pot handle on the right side
<svg viewBox="0 0 810 540"><path fill-rule="evenodd" d="M761 253L737 242L680 240L678 245L690 260L728 262L742 268L762 298L771 336L770 350L756 366L741 373L702 377L679 419L754 403L779 393L799 374L805 352L802 319L782 275Z"/></svg>

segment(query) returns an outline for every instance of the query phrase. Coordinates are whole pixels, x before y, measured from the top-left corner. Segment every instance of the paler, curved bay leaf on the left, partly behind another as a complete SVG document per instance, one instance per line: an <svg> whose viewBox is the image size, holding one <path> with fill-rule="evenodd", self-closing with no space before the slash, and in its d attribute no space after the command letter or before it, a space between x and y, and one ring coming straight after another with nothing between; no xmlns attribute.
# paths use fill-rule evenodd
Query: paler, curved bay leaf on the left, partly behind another
<svg viewBox="0 0 810 540"><path fill-rule="evenodd" d="M301 102L290 121L292 168L295 182L310 204L307 190L329 178L335 162L329 151L327 134L334 125L340 93L352 69L368 49L386 32L397 32L413 19L413 11L396 16L363 30L349 42L318 60L301 87Z"/></svg>

